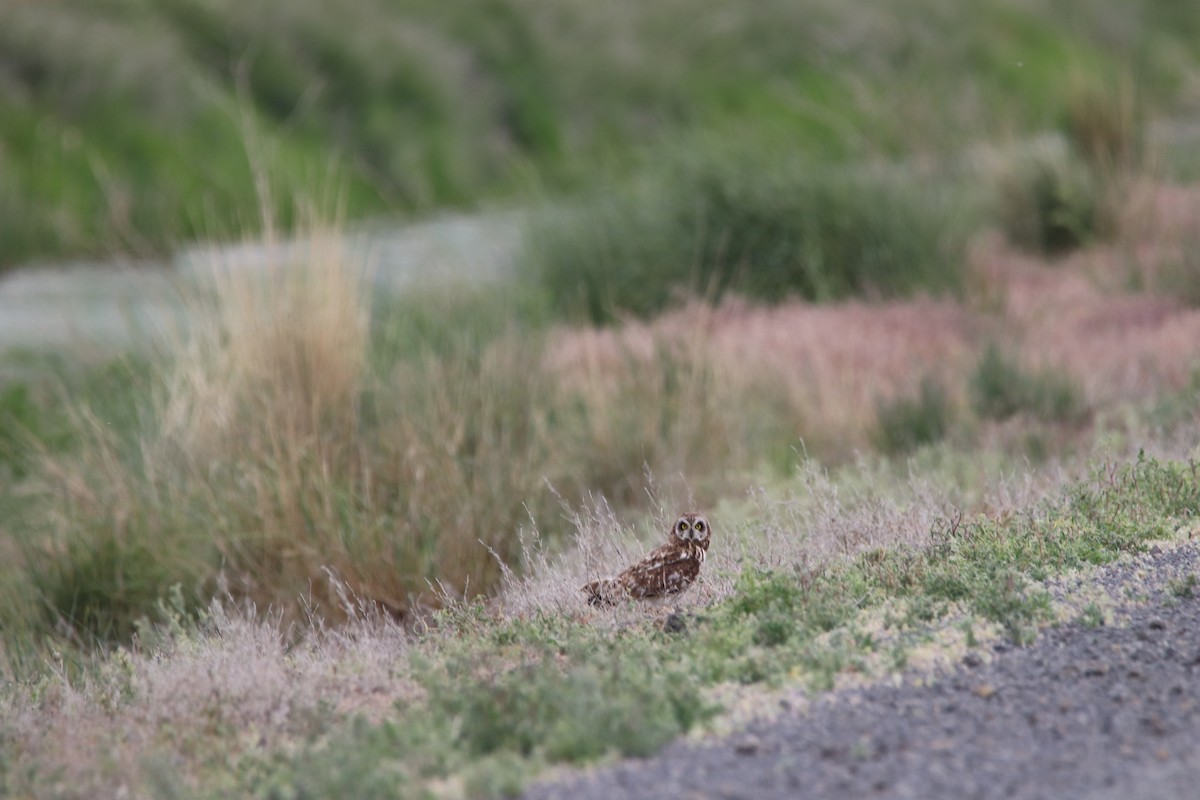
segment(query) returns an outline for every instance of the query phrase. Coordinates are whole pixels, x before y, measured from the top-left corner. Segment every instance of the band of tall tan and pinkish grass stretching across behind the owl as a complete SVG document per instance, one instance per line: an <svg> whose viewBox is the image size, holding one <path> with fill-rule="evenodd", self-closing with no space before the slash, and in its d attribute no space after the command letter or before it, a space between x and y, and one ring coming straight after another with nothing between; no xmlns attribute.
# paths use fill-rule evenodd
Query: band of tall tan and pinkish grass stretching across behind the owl
<svg viewBox="0 0 1200 800"><path fill-rule="evenodd" d="M546 331L505 321L491 290L376 303L372 319L370 269L335 241L258 271L214 265L139 427L78 413L83 445L36 470L7 630L127 639L174 584L197 607L224 588L340 618L331 575L408 619L529 569L522 531L562 547L564 506L602 497L642 516L648 473L662 497L712 507L810 456L852 461L882 404L926 378L967 411L944 434L970 438L989 422L970 419L968 379L997 333L1021 369L1069 375L1086 409L1178 390L1195 365L1195 311L1105 289L1072 260L1098 251L1046 270L978 247L998 299L982 313L728 301Z"/></svg>

